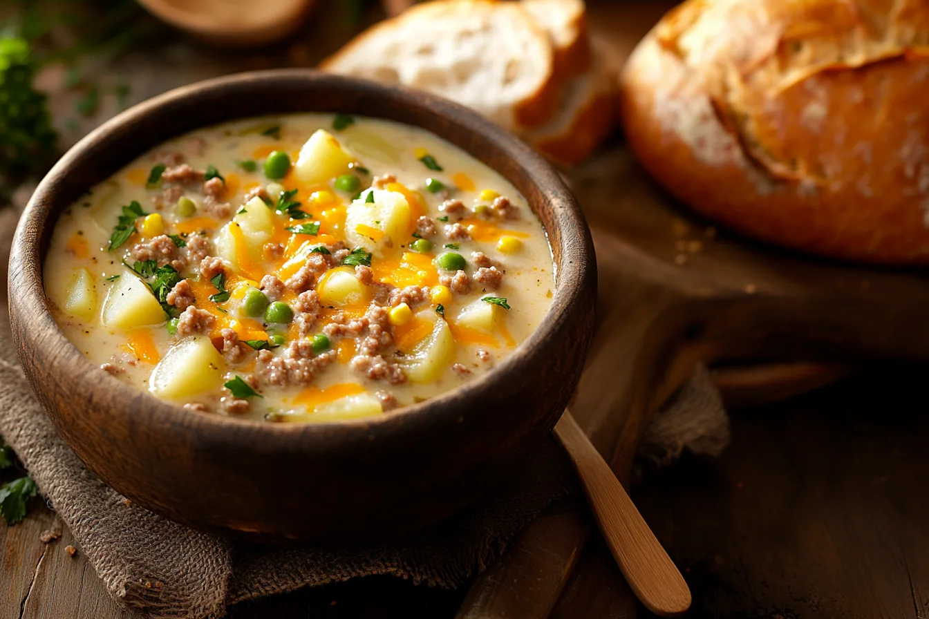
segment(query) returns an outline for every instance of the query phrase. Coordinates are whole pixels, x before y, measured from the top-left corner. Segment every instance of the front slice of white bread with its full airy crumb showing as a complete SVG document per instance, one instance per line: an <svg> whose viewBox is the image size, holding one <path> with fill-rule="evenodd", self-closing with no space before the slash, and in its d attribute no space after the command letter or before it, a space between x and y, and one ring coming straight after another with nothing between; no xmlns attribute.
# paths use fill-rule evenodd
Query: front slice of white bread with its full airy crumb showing
<svg viewBox="0 0 929 619"><path fill-rule="evenodd" d="M362 32L320 68L450 98L504 128L552 118L549 37L518 3L438 0Z"/></svg>

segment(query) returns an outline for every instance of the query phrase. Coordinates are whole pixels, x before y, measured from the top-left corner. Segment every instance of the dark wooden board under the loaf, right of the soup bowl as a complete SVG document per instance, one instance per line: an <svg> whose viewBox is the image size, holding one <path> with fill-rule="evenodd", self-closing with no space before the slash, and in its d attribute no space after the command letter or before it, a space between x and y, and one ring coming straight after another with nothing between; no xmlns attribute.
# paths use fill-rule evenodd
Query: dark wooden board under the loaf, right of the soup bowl
<svg viewBox="0 0 929 619"><path fill-rule="evenodd" d="M569 182L593 230L599 271L598 331L571 410L624 483L649 419L700 362L841 364L779 372L816 382L858 362L929 358L922 271L840 264L726 232L654 185L622 144ZM580 501L549 509L478 579L459 618L561 616L584 582L608 582L602 556L584 566L599 576L571 579L591 531ZM626 587L588 594L605 605L596 613L635 612Z"/></svg>

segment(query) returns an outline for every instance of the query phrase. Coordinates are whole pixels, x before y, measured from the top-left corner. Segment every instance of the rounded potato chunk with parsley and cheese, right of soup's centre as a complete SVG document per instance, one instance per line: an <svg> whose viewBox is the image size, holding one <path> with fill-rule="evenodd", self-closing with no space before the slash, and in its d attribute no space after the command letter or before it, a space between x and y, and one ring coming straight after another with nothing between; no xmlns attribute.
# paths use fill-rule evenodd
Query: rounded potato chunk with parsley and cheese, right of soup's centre
<svg viewBox="0 0 929 619"><path fill-rule="evenodd" d="M356 246L377 256L399 251L412 234L412 211L403 194L371 189L374 201L366 201L368 192L348 205L346 238ZM375 231L372 232L372 229Z"/></svg>

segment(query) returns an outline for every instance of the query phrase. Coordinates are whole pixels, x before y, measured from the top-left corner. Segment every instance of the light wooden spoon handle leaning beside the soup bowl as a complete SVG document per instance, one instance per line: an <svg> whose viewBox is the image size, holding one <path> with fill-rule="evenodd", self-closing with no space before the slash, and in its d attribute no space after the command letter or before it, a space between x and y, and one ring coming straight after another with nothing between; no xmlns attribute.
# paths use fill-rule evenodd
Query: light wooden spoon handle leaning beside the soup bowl
<svg viewBox="0 0 929 619"><path fill-rule="evenodd" d="M555 426L613 557L645 607L662 617L690 608L690 589L642 514L568 410Z"/></svg>

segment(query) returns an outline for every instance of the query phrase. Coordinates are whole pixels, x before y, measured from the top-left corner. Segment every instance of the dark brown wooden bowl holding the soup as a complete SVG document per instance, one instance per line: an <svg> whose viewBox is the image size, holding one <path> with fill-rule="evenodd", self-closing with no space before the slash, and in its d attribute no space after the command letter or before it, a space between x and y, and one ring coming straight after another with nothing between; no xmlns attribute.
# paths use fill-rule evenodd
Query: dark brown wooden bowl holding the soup
<svg viewBox="0 0 929 619"><path fill-rule="evenodd" d="M539 328L497 368L375 419L273 424L193 413L111 377L48 311L42 263L55 221L88 187L175 135L272 113L342 111L423 127L498 170L529 200L556 264ZM424 93L314 71L192 84L87 135L35 190L10 257L10 317L33 391L114 489L191 526L253 538L409 533L485 496L555 425L594 328L590 232L556 171L477 113Z"/></svg>

